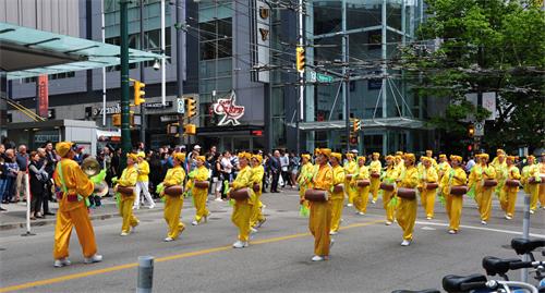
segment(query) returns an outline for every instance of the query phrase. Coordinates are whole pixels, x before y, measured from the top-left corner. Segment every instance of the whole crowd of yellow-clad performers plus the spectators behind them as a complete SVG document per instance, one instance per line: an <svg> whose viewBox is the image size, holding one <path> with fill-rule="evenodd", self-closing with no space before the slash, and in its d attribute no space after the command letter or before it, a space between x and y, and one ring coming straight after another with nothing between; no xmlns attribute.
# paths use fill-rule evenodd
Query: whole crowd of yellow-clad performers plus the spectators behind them
<svg viewBox="0 0 545 293"><path fill-rule="evenodd" d="M12 145L0 145L2 203L24 199L25 175L29 176L33 217L52 215L47 202L59 202L56 267L70 264L68 243L72 227L81 240L85 263L102 259L97 254L87 215L87 209L99 206L100 200L90 200L90 206L83 200L98 193L98 184L80 168L87 156L83 147L70 142L58 143L55 149L53 144L46 143L31 154L24 145L17 151ZM514 217L520 187L530 196L531 213L537 211L538 205L545 209L545 154L540 158L519 158L498 149L489 161L489 155L484 152L463 160L457 155L434 157L432 150L426 150L416 160L414 154L402 151L385 157L373 152L367 157L359 156L356 150L341 154L327 148L301 156L281 150L267 155L261 150L219 152L215 146L205 152L199 145L191 150L179 146L152 151L138 143L125 156L123 170L119 149L105 147L97 156L118 203L121 236L130 235L140 223L134 209L155 208L156 198L160 198L165 202L167 223L164 241L175 241L185 229L180 221L184 198L191 196L195 207L193 225L207 222L208 198L229 200L233 206L231 220L239 230L233 247L243 248L249 246L250 234L266 221L262 194L267 188L269 193L298 188L301 216L308 218L315 237L315 261L328 258L331 236L339 231L344 207L353 207L356 215L364 216L368 202L376 204L380 196L385 224L400 225L402 246L412 243L419 202L427 220L434 218L436 200L443 203L450 234L460 231L464 196L477 204L482 224L491 219L493 194L498 197L506 220Z"/></svg>

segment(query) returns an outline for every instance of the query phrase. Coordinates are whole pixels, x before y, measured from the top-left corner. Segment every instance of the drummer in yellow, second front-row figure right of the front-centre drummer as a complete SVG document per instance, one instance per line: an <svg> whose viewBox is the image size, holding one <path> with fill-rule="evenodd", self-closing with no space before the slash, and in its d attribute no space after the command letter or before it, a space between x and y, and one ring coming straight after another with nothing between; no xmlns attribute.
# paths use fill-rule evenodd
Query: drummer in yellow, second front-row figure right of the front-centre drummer
<svg viewBox="0 0 545 293"><path fill-rule="evenodd" d="M451 155L450 163L452 163L452 168L444 174L441 188L447 202L446 210L449 218L448 233L457 234L460 230L460 219L462 218L463 195L453 195L450 193L450 190L452 186L465 185L468 176L463 168L461 168L462 157Z"/></svg>

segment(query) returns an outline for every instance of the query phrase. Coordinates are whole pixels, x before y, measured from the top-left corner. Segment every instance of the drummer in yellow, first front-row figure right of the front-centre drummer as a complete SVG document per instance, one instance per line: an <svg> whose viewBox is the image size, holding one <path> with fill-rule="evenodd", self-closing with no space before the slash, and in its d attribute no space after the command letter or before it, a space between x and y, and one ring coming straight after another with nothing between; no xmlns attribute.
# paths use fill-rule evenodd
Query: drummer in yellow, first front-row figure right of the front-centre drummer
<svg viewBox="0 0 545 293"><path fill-rule="evenodd" d="M398 187L415 190L419 185L419 171L414 167L416 158L414 154L405 154L403 157L405 171L399 178ZM401 246L409 246L412 242L414 223L416 221L417 202L416 199L399 198L396 218L399 227L403 230L403 241Z"/></svg>

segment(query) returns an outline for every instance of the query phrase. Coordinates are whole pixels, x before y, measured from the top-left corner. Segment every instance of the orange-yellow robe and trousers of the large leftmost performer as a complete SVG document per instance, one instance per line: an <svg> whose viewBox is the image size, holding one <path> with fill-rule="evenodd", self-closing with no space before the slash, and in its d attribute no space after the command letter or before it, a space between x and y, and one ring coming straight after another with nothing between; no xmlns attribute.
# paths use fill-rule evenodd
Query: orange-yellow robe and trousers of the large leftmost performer
<svg viewBox="0 0 545 293"><path fill-rule="evenodd" d="M62 172L64 187L61 183L59 171ZM87 197L93 193L93 182L83 173L77 162L71 159L62 159L53 174L55 184L61 188L62 199L59 200L57 211L57 222L55 225L53 258L60 259L69 256L70 235L72 228L75 228L80 245L82 245L83 256L92 257L97 253L95 232L88 216L85 200L69 202L70 195ZM72 200L73 197L71 197Z"/></svg>

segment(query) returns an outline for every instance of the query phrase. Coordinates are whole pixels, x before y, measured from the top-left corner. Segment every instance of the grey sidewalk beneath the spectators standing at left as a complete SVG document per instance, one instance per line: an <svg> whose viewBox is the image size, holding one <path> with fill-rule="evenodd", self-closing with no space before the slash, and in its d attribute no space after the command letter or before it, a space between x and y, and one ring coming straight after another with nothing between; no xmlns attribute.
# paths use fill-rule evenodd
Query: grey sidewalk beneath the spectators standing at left
<svg viewBox="0 0 545 293"><path fill-rule="evenodd" d="M98 208L89 209L89 215L92 220L105 220L113 217L119 217L118 207L116 206L116 200L112 197L105 197L101 200L102 205ZM135 210L135 215L142 212L150 211L161 211L164 209L164 204L161 200L156 199L155 208L149 209L147 207L141 207L140 210ZM0 231L26 228L26 203L16 203L3 205L8 211L0 212ZM59 204L49 202L49 209L57 213ZM31 227L55 224L57 221L57 216L47 216L43 219L31 220Z"/></svg>

